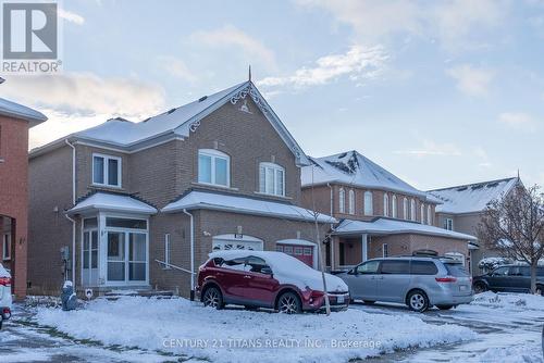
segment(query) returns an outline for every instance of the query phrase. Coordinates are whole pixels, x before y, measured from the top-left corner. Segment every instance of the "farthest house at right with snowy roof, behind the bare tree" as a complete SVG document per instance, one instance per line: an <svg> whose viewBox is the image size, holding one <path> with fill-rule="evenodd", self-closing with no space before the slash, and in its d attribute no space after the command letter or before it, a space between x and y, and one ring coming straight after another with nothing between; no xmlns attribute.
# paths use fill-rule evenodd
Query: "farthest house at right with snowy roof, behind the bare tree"
<svg viewBox="0 0 544 363"><path fill-rule="evenodd" d="M511 177L429 190L431 197L441 202L436 206L436 225L447 230L478 236L478 225L490 202L504 198L519 184L519 177ZM500 256L498 251L479 241L471 243L470 250L471 271L474 275L483 272L478 267L482 259Z"/></svg>

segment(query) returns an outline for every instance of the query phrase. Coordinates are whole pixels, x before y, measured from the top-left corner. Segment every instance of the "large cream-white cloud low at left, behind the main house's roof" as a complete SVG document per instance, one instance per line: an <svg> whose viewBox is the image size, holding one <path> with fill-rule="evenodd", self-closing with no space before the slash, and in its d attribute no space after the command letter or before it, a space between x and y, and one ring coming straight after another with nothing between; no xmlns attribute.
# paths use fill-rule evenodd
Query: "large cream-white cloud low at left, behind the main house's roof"
<svg viewBox="0 0 544 363"><path fill-rule="evenodd" d="M30 147L114 116L140 121L165 109L162 88L132 78L102 78L91 73L5 78L2 97L49 117L32 129Z"/></svg>

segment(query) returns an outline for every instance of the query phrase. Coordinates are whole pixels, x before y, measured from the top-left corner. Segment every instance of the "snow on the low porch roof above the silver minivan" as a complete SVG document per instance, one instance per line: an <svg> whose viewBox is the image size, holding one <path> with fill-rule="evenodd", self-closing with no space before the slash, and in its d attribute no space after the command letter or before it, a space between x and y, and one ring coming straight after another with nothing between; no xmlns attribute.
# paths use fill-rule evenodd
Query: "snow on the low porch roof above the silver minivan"
<svg viewBox="0 0 544 363"><path fill-rule="evenodd" d="M460 234L458 231L447 230L426 224L420 224L407 221L397 221L390 218L378 218L372 222L344 220L334 228L335 235L350 234L378 234L378 235L398 235L398 234L419 234L430 236L441 236L456 239L477 240L474 236Z"/></svg>

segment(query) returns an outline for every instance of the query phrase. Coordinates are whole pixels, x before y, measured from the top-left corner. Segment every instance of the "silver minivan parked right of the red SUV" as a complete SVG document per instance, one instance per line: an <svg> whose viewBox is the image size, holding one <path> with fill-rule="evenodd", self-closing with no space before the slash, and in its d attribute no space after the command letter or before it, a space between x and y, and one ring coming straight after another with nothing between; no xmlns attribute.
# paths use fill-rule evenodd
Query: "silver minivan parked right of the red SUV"
<svg viewBox="0 0 544 363"><path fill-rule="evenodd" d="M471 277L453 259L405 256L373 259L337 274L349 287L351 299L406 303L424 312L433 305L452 309L472 301Z"/></svg>

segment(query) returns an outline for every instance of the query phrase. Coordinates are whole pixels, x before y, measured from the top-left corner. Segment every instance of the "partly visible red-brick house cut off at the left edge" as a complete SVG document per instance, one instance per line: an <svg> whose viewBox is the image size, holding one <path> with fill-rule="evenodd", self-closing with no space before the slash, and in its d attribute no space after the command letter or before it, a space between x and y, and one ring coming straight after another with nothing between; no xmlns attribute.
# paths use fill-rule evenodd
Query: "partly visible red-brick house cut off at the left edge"
<svg viewBox="0 0 544 363"><path fill-rule="evenodd" d="M0 98L0 262L11 270L12 291L26 296L28 129L47 117Z"/></svg>

